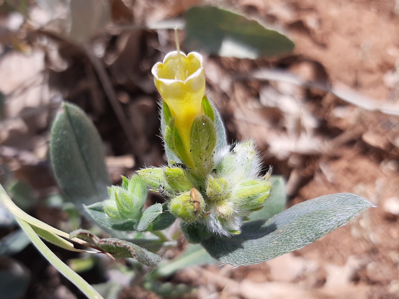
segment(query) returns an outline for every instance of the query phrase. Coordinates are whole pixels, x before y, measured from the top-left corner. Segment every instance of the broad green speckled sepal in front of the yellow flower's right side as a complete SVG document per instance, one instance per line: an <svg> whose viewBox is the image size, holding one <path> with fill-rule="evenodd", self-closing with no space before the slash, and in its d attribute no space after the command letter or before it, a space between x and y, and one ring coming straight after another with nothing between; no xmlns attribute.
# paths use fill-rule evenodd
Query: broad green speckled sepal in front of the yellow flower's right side
<svg viewBox="0 0 399 299"><path fill-rule="evenodd" d="M190 131L191 155L200 177L205 177L213 167L216 145L215 124L207 115L196 117Z"/></svg>

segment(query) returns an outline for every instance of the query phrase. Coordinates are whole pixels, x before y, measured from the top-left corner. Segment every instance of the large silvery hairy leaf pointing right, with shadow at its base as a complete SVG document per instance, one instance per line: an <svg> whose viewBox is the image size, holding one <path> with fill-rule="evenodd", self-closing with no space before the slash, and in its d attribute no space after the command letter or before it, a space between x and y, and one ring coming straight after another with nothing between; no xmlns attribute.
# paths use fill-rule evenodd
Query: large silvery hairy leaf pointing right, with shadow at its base
<svg viewBox="0 0 399 299"><path fill-rule="evenodd" d="M269 220L245 223L241 234L211 236L201 244L208 253L231 265L250 265L273 259L310 244L373 206L360 196L338 193L307 200Z"/></svg>

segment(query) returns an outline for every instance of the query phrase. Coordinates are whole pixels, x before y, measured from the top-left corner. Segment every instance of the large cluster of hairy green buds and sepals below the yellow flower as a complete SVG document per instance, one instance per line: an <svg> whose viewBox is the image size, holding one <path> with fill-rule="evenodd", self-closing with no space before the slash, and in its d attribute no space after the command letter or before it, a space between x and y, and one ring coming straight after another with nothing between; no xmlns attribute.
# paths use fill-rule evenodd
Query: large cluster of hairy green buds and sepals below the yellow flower
<svg viewBox="0 0 399 299"><path fill-rule="evenodd" d="M202 109L204 114L192 122L188 151L168 106L162 103L168 166L144 168L138 174L150 190L168 201L169 211L182 222L202 224L214 234L239 234L249 214L261 209L269 197L271 183L260 176L262 162L254 143L227 145L219 140L218 114L206 96Z"/></svg>

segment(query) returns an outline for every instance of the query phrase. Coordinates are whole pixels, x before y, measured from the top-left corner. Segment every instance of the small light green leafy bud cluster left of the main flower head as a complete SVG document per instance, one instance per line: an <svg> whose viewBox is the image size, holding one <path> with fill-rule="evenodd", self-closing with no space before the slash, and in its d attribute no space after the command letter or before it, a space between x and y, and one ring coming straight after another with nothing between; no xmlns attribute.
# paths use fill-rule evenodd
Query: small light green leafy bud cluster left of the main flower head
<svg viewBox="0 0 399 299"><path fill-rule="evenodd" d="M122 176L122 186L108 187L109 199L103 202L105 213L115 221L139 219L147 198L146 184L138 175L129 180Z"/></svg>

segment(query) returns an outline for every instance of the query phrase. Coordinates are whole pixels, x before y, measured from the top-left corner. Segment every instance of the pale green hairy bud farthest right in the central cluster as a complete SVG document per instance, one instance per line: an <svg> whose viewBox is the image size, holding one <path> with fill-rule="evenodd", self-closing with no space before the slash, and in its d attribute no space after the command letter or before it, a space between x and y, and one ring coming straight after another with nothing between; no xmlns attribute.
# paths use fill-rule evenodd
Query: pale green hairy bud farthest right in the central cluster
<svg viewBox="0 0 399 299"><path fill-rule="evenodd" d="M271 183L265 180L247 180L241 183L233 192L239 198L241 207L257 210L267 200L271 192Z"/></svg>

